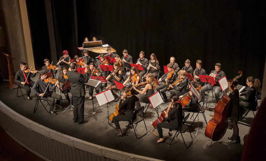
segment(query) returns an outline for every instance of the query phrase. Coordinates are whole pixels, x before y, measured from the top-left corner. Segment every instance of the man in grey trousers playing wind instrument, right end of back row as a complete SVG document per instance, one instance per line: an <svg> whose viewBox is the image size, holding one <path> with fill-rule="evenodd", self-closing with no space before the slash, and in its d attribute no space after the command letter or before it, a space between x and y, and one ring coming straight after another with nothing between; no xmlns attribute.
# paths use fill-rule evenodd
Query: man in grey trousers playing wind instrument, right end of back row
<svg viewBox="0 0 266 161"><path fill-rule="evenodd" d="M215 74L213 74L215 72ZM203 86L200 90L201 95L201 101L205 100L205 91L214 90L215 93L215 100L216 103L220 100L220 91L221 87L219 86L218 80L223 78L225 76L225 73L223 70L221 70L221 63L215 63L215 70L212 70L209 76L213 76L215 78L216 84L207 83L205 86Z"/></svg>

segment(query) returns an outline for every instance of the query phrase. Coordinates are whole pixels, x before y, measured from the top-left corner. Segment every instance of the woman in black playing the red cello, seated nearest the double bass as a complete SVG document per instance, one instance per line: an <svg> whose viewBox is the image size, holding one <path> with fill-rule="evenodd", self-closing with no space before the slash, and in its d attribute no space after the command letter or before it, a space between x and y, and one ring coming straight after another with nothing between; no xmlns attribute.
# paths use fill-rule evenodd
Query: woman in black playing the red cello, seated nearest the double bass
<svg viewBox="0 0 266 161"><path fill-rule="evenodd" d="M179 99L179 95L174 93L170 96L171 102L169 103L169 106L167 108L165 119L167 119L170 122L160 122L157 124L157 130L159 133L159 140L157 140L155 143L163 143L165 140L163 139L163 129L166 128L169 129L168 134L169 136L172 136L171 129L178 128L182 123L182 106L179 103L175 103Z"/></svg>

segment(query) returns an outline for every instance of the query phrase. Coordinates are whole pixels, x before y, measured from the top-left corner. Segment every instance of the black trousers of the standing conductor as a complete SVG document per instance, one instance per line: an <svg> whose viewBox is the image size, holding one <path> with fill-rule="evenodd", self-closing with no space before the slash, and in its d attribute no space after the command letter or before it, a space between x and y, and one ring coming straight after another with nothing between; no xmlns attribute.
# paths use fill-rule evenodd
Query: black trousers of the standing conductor
<svg viewBox="0 0 266 161"><path fill-rule="evenodd" d="M85 96L81 97L75 97L72 96L73 98L73 114L74 118L73 121L76 122L78 121L79 123L84 121L84 101L85 101Z"/></svg>

